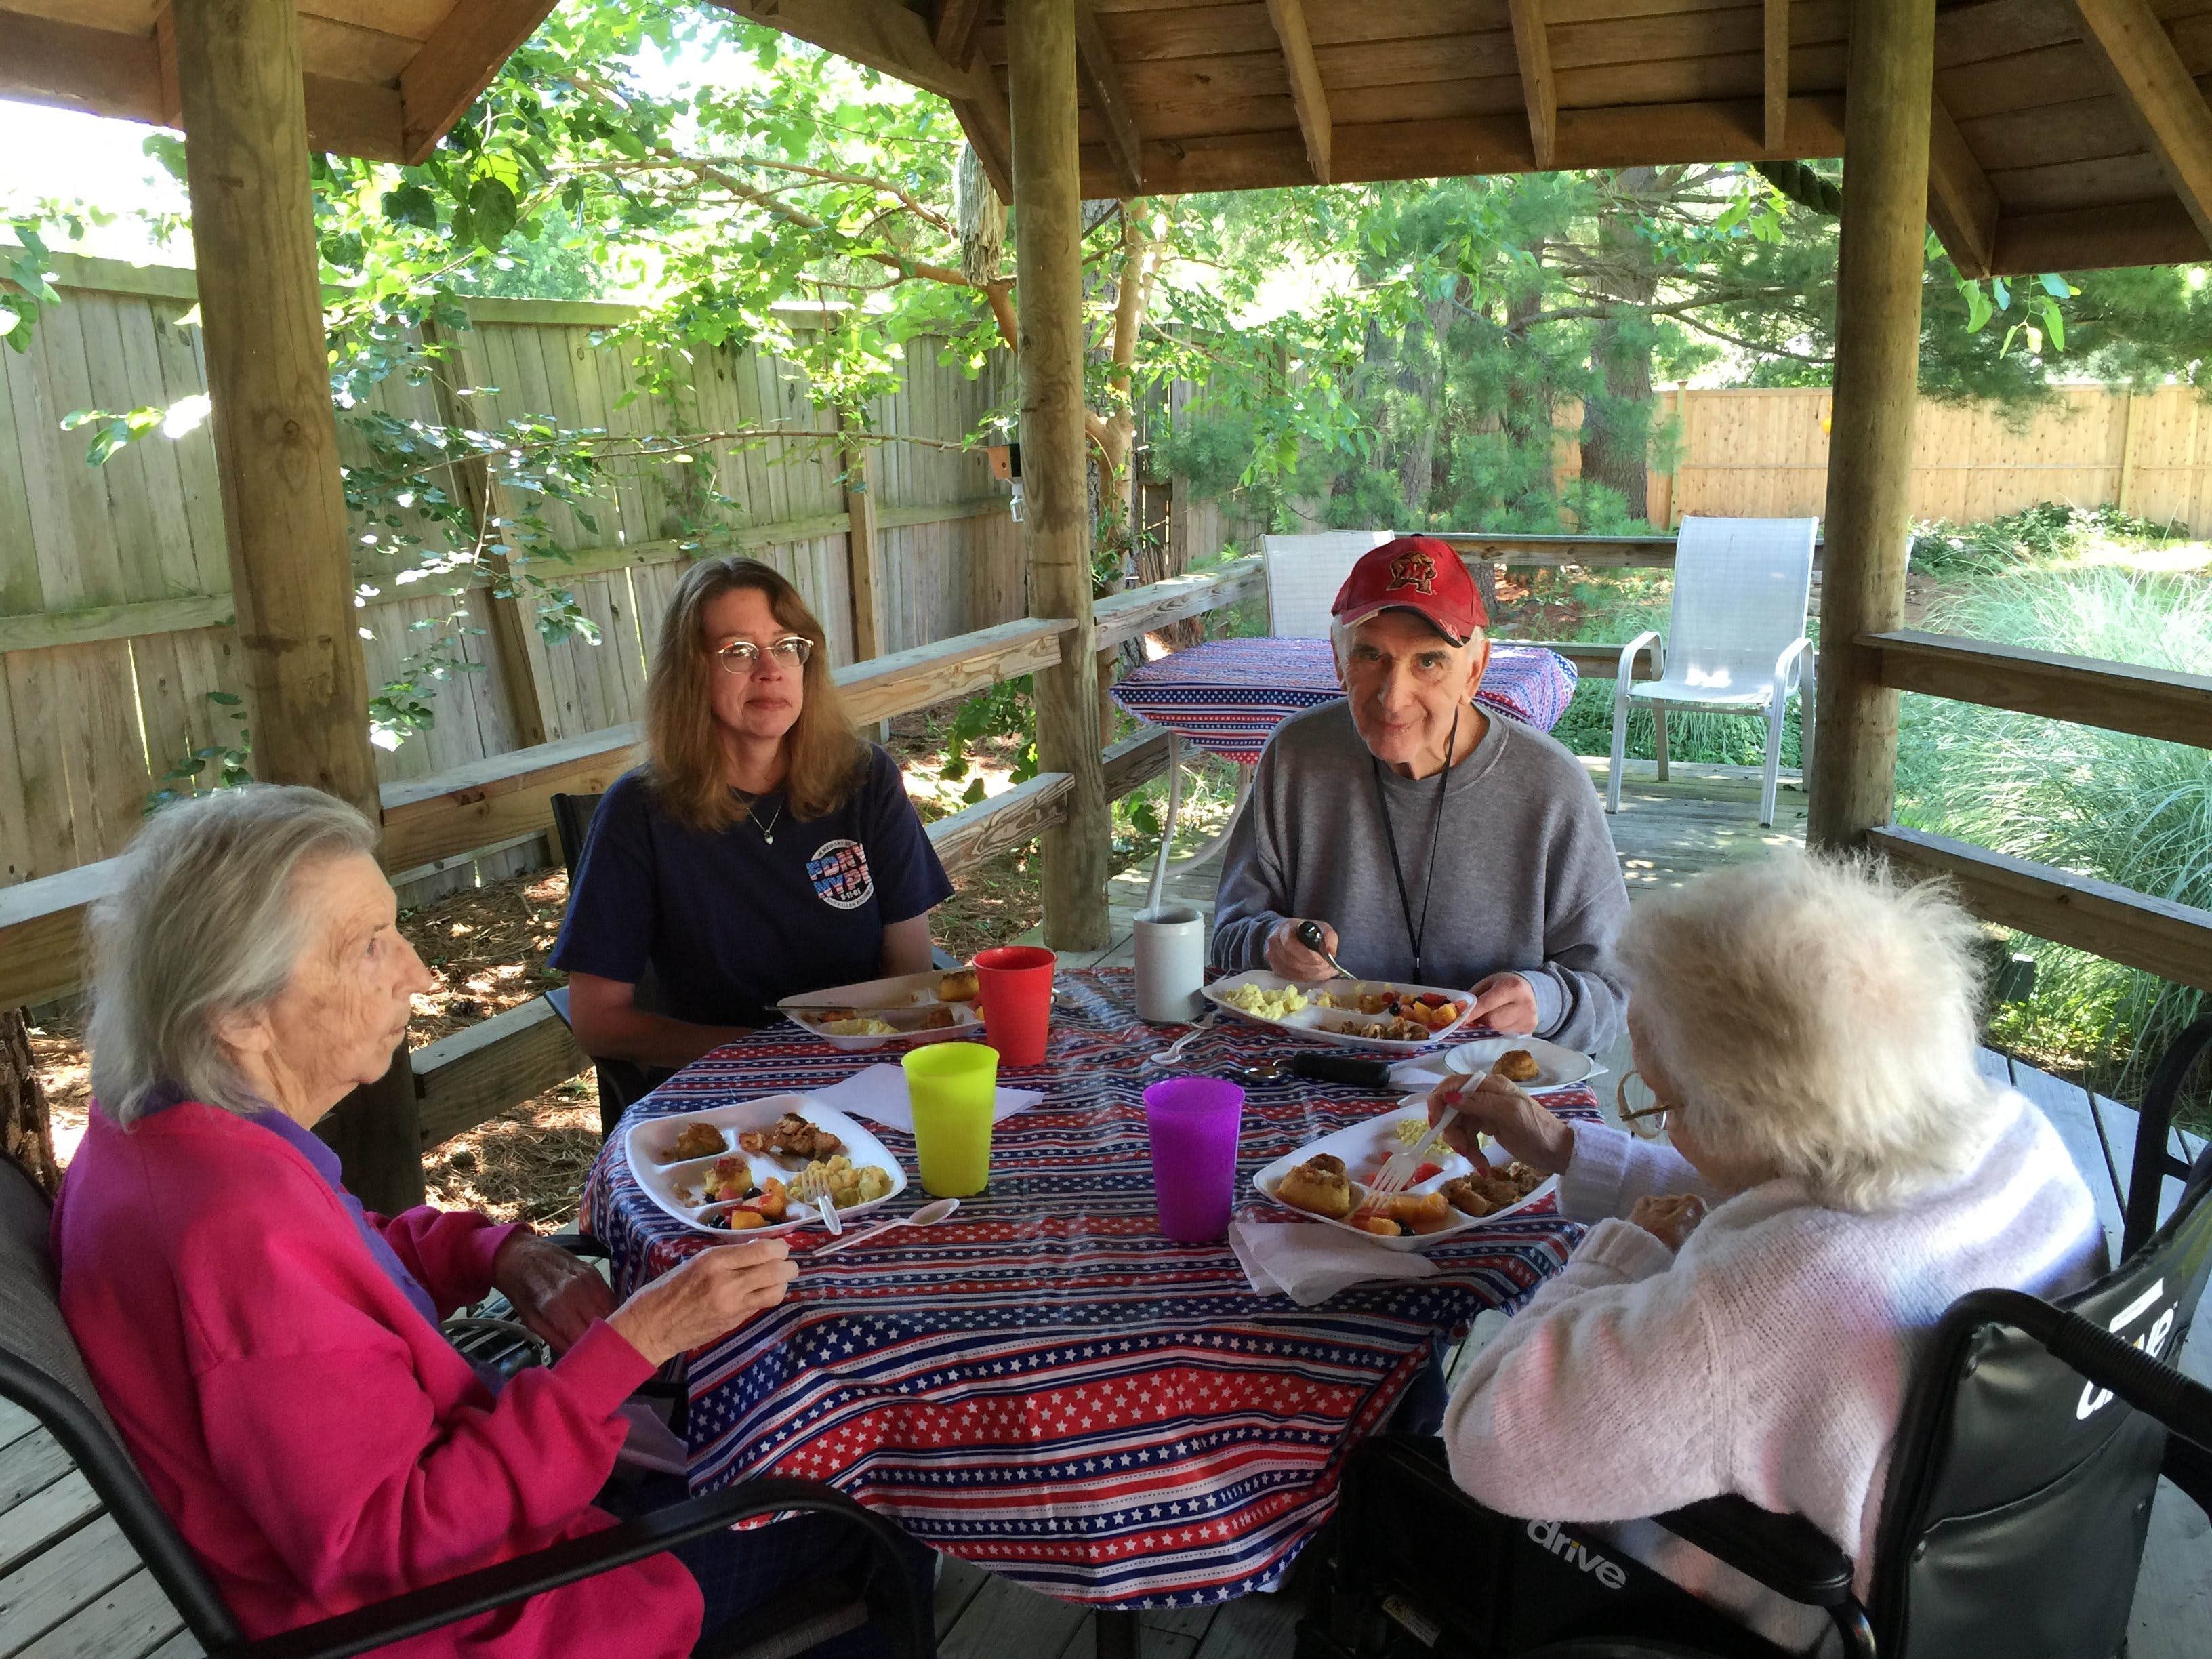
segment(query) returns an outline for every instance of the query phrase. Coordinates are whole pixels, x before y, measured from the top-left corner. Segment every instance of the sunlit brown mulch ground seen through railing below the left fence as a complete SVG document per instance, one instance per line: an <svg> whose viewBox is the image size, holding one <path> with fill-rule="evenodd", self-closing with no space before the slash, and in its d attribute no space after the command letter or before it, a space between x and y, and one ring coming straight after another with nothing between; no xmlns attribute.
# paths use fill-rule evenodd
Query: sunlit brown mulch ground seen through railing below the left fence
<svg viewBox="0 0 2212 1659"><path fill-rule="evenodd" d="M922 821L956 812L951 785L936 783L956 706L907 714L891 726L891 752L907 770ZM1013 765L1006 739L969 748L984 787L1006 787ZM967 787L967 781L960 783ZM562 982L546 967L568 902L568 874L540 869L469 887L400 911L400 931L438 975L414 1000L409 1048L489 1020ZM931 931L953 956L1004 945L1037 922L1035 847L1020 847L971 869L936 911ZM77 1004L49 1009L31 1026L31 1053L53 1115L53 1144L66 1166L84 1135L91 1075ZM434 1148L422 1164L429 1201L447 1210L482 1210L495 1221L553 1228L575 1217L577 1194L599 1155L599 1093L591 1071L571 1077L478 1128Z"/></svg>

